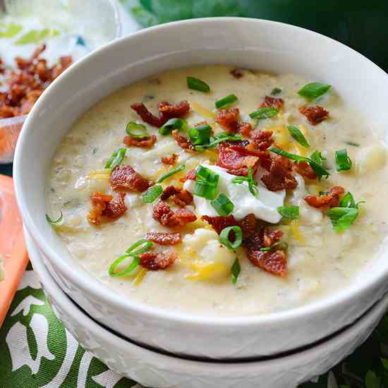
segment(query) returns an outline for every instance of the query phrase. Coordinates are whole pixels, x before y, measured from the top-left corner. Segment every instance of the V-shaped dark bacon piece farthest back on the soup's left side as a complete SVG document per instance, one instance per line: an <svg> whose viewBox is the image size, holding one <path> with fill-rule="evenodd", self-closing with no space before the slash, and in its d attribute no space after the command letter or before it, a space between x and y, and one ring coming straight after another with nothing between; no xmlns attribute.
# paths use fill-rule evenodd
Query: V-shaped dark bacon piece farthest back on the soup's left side
<svg viewBox="0 0 388 388"><path fill-rule="evenodd" d="M190 110L190 105L187 101L178 102L178 104L170 104L169 102L162 101L158 104L159 116L152 114L145 104L132 104L131 108L141 117L145 123L149 123L151 126L161 127L169 119L173 117L182 117Z"/></svg>

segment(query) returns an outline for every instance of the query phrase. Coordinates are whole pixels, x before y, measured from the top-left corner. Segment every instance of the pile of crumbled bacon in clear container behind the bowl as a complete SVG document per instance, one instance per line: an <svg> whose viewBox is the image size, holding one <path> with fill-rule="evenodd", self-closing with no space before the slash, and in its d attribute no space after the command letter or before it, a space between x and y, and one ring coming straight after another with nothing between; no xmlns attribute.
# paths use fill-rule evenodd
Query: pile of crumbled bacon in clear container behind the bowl
<svg viewBox="0 0 388 388"><path fill-rule="evenodd" d="M44 89L71 65L71 57L63 56L60 66L47 67L47 61L39 58L44 49L44 44L37 47L31 59L16 57L17 70L9 75L0 63L8 85L8 90L0 92L0 119L28 114Z"/></svg>

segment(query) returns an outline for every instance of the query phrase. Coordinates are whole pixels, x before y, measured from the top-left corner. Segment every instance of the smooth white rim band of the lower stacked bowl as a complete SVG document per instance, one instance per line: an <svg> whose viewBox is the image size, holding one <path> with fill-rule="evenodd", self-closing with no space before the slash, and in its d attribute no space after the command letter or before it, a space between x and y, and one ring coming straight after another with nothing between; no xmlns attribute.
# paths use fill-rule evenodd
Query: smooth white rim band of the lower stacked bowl
<svg viewBox="0 0 388 388"><path fill-rule="evenodd" d="M32 250L32 266L34 271L39 275L40 282L42 283L43 289L50 289L50 293L55 295L55 299L61 299L62 305L66 308L66 313L68 316L73 319L74 316L78 317L78 322L83 322L83 326L88 327L88 329L92 330L92 332L102 332L105 338L109 338L109 341L114 341L116 346L120 346L121 348L131 348L132 351L135 351L136 354L140 354L141 357L145 360L146 356L152 356L160 358L164 360L166 365L182 365L183 367L193 367L193 368L217 368L219 372L223 372L226 365L231 370L236 368L236 370L241 370L241 368L247 368L250 372L257 372L257 368L267 368L267 365L274 363L284 363L284 365L289 366L290 362L296 362L296 358L310 358L312 353L320 353L325 354L325 349L328 346L334 346L334 344L342 344L344 341L348 341L349 337L352 337L356 332L358 335L362 335L362 328L366 325L366 322L372 320L372 317L375 317L376 314L380 312L381 309L385 310L384 305L388 304L388 293L384 294L382 298L372 305L361 317L359 317L356 322L353 324L344 327L339 332L332 334L327 339L322 339L318 344L313 344L310 346L306 346L303 349L299 349L296 351L290 351L289 353L281 356L269 356L268 358L263 359L250 359L250 360L195 360L193 358L185 358L178 356L176 354L166 354L164 352L158 351L157 349L149 349L138 344L133 343L133 341L129 339L123 338L123 336L112 332L106 327L102 326L94 320L92 317L87 315L78 305L75 303L66 293L61 289L58 283L56 283L55 279L49 273L47 267L44 265L44 260L42 259L42 255L40 255L39 248L33 242L30 233L25 231L25 239L26 245L28 247L28 251ZM26 233L27 232L27 233ZM48 286L47 286L48 285ZM339 345L340 345L339 344ZM140 352L140 353L139 353ZM327 352L327 350L326 350ZM229 370L229 372L231 372Z"/></svg>

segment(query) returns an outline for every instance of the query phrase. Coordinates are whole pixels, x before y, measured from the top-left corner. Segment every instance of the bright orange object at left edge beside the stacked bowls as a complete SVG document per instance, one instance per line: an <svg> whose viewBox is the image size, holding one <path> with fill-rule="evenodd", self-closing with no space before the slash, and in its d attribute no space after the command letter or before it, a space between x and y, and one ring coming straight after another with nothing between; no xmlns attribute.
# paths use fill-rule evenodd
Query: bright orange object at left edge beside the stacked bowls
<svg viewBox="0 0 388 388"><path fill-rule="evenodd" d="M4 258L5 279L0 281L0 327L28 264L22 219L16 205L13 181L0 175L0 253Z"/></svg>

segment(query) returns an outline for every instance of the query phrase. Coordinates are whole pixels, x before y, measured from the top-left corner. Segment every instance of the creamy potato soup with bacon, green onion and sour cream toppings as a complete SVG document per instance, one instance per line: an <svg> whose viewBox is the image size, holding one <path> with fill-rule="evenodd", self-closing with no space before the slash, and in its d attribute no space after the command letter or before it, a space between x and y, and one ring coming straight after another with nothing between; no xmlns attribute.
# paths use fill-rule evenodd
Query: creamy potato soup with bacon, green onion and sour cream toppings
<svg viewBox="0 0 388 388"><path fill-rule="evenodd" d="M48 221L102 284L166 310L257 315L346 288L387 235L387 151L313 81L202 66L114 92L56 150Z"/></svg>

